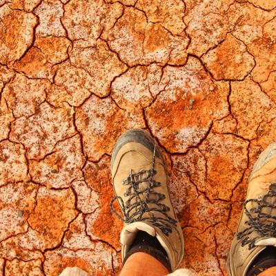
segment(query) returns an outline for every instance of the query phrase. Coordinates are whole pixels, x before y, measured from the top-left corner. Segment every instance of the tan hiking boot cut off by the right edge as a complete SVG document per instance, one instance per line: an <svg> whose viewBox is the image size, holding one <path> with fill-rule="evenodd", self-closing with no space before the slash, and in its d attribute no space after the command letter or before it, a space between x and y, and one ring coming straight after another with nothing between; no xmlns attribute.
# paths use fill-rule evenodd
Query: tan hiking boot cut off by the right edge
<svg viewBox="0 0 276 276"><path fill-rule="evenodd" d="M266 246L276 246L276 142L257 159L246 201L228 252L230 276L244 276Z"/></svg>

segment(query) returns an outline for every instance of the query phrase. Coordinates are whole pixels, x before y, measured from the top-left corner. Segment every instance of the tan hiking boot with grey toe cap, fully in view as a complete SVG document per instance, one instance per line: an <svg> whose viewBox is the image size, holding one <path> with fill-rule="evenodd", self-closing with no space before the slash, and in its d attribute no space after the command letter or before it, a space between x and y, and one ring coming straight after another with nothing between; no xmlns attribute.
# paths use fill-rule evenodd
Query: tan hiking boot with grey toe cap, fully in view
<svg viewBox="0 0 276 276"><path fill-rule="evenodd" d="M184 238L170 201L166 163L154 139L134 128L119 137L111 159L116 197L110 208L121 221L122 258L131 248L139 230L157 237L166 250L172 271L184 257ZM117 199L124 217L112 208Z"/></svg>

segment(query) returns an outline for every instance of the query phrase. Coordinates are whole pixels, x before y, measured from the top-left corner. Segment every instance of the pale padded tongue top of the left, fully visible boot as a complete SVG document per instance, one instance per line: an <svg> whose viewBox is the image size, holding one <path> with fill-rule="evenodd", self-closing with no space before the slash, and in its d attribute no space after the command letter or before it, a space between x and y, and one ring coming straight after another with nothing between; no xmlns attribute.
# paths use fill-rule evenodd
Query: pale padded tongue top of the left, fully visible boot
<svg viewBox="0 0 276 276"><path fill-rule="evenodd" d="M124 244L125 246L130 246L134 242L139 230L145 231L149 235L152 235L152 237L155 237L155 228L148 225L146 222L137 221L133 222L132 224L128 224L121 231L121 244Z"/></svg>

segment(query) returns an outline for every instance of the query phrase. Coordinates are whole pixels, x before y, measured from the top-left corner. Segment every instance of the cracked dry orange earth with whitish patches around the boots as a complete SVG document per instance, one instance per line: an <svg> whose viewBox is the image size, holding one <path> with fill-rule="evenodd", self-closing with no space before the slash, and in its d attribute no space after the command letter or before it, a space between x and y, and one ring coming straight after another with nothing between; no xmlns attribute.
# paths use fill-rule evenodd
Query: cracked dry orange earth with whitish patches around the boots
<svg viewBox="0 0 276 276"><path fill-rule="evenodd" d="M130 128L166 157L181 267L227 275L250 170L275 140L275 7L0 0L0 275L118 274L110 155Z"/></svg>

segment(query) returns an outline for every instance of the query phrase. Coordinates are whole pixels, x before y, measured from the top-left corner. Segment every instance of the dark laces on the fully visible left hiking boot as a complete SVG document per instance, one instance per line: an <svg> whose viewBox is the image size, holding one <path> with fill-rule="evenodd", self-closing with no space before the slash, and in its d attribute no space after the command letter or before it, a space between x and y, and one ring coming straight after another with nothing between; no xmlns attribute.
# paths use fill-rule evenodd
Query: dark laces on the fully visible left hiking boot
<svg viewBox="0 0 276 276"><path fill-rule="evenodd" d="M135 174L132 174L132 170L130 170L130 175L127 179L124 179L121 184L122 185L130 185L129 188L126 189L125 196L130 196L128 201L126 201L126 205L124 204L124 201L121 197L117 196L114 197L110 203L110 209L113 213L121 221L124 221L126 224L132 224L135 221L148 221L152 225L158 227L164 235L168 236L168 233L172 233L172 227L171 224L176 226L177 221L166 214L170 210L168 206L165 204L159 203L159 200L165 199L165 195L162 195L160 193L156 193L152 188L161 186L160 182L157 182L155 180L152 180L152 177L157 174L157 171L155 168L155 150L156 146L153 150L153 157L152 157L152 168L151 170L141 170L140 172L137 172ZM143 179L140 179L142 175L145 175ZM142 182L148 182L148 187L144 188L142 190L137 190L139 188L139 184ZM132 190L132 192L131 192ZM140 194L146 193L146 197L144 200L141 199ZM149 199L149 195L156 195L157 199ZM137 201L130 204L130 201L132 199L137 198ZM115 200L119 200L121 203L121 209L124 215L124 219L118 215L118 213L113 209L112 204ZM155 205L156 207L150 207L149 204ZM130 215L130 211L136 208L136 211ZM157 212L163 214L166 218L163 217L155 217L152 212ZM151 213L153 215L152 217L143 217L145 213Z"/></svg>

